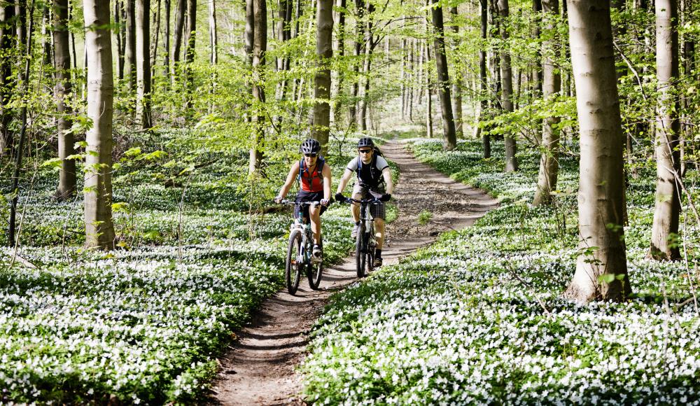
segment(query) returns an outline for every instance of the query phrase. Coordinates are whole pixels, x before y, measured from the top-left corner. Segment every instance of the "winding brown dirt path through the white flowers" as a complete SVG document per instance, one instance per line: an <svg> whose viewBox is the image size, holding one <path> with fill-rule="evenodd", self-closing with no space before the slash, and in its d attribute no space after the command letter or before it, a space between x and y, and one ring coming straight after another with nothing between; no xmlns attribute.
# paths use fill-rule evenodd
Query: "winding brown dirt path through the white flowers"
<svg viewBox="0 0 700 406"><path fill-rule="evenodd" d="M482 190L418 162L399 141L384 144L381 152L400 169L393 193L398 218L387 225L388 241L381 255L384 265L395 264L416 248L430 244L442 231L472 225L498 205ZM421 211L433 214L430 223L419 225ZM328 297L356 279L351 256L325 269L320 290L311 290L304 276L297 295L283 290L266 300L253 314L251 325L237 332L239 340L220 359L214 403L303 405L295 367L304 358L308 332Z"/></svg>

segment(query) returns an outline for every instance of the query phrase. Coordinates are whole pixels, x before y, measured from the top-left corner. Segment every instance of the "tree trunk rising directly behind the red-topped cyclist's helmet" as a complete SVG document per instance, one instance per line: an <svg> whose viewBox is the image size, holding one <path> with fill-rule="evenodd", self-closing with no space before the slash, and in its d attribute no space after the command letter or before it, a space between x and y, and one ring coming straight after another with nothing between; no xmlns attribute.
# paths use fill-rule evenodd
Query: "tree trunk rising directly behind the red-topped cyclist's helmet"
<svg viewBox="0 0 700 406"><path fill-rule="evenodd" d="M316 13L316 57L319 68L314 80L314 130L321 155L328 153L330 130L330 62L333 57L333 0L318 0Z"/></svg>

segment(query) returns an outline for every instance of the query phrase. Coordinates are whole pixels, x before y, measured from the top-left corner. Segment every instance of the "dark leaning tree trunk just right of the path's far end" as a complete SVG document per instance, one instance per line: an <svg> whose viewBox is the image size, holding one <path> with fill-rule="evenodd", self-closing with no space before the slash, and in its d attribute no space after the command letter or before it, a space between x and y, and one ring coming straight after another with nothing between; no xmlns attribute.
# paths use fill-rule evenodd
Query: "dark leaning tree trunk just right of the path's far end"
<svg viewBox="0 0 700 406"><path fill-rule="evenodd" d="M433 27L435 28L435 68L437 69L437 94L440 97L442 112L443 148L452 151L457 147L457 136L452 116L452 101L449 94L449 72L447 71L447 55L444 50L444 21L442 6L438 0L433 0Z"/></svg>

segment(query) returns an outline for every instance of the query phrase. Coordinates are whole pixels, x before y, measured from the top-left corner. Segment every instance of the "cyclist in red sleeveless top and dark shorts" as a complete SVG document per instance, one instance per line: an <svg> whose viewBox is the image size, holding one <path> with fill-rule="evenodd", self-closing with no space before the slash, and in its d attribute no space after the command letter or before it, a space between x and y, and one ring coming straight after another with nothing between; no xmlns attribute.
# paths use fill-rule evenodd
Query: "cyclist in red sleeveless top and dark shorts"
<svg viewBox="0 0 700 406"><path fill-rule="evenodd" d="M304 155L299 162L294 162L289 168L287 180L279 190L274 201L280 203L289 192L294 179L300 183L295 202L321 202L321 207L305 206L304 219L311 220L311 232L314 233L313 255L320 258L323 253L321 244L321 214L330 203L330 167L325 165L323 157L319 156L321 144L315 139L307 139L300 147ZM300 207L294 209L294 217L299 216Z"/></svg>

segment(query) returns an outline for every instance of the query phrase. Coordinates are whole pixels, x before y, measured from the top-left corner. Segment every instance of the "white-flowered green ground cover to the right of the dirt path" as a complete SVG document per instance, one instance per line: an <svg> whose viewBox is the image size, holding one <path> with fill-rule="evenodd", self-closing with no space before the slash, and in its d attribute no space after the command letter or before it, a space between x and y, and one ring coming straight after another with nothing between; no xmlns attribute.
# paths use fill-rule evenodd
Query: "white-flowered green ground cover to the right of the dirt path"
<svg viewBox="0 0 700 406"><path fill-rule="evenodd" d="M561 158L559 204L531 208L538 157L503 174L467 141L412 150L498 196L472 228L443 235L399 265L332 298L302 365L317 404L693 404L700 402L697 279L645 258L650 176L628 190L634 297L579 306L559 295L577 255L575 157ZM697 241L696 229L685 239ZM690 259L693 260L692 252ZM684 305L685 304L685 305Z"/></svg>

